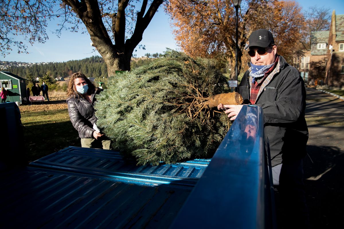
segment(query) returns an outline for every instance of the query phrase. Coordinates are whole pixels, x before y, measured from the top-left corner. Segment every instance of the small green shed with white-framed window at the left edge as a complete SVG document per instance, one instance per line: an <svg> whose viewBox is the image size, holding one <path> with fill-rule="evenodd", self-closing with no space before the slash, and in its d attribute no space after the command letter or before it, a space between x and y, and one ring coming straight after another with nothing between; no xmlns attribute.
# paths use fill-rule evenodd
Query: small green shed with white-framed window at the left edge
<svg viewBox="0 0 344 229"><path fill-rule="evenodd" d="M26 79L11 72L0 71L0 88L4 87L8 91L6 102L19 102L19 104L22 104L26 100L25 81Z"/></svg>

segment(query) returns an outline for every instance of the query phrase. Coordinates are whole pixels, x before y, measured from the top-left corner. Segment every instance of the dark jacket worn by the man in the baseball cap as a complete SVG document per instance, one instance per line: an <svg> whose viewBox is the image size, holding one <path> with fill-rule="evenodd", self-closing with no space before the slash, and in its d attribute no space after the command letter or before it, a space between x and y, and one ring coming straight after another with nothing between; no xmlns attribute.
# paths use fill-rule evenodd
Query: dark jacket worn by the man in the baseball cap
<svg viewBox="0 0 344 229"><path fill-rule="evenodd" d="M282 56L278 58L276 68L260 87L255 104L263 108L264 134L270 145L272 166L282 163L282 159L292 161L303 158L308 141L303 79ZM238 87L245 104L250 103L251 83L248 70Z"/></svg>

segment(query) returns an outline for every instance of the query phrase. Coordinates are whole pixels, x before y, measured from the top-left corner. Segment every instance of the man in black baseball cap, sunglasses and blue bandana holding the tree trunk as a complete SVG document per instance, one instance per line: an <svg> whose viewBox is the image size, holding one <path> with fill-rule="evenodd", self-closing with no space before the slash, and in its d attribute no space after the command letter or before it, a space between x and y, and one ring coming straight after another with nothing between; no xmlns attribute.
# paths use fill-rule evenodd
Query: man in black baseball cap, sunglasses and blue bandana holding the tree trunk
<svg viewBox="0 0 344 229"><path fill-rule="evenodd" d="M308 128L305 121L306 91L300 73L277 54L269 30L259 29L250 35L248 55L251 62L238 92L244 104L263 109L264 134L269 142L274 185L283 209L282 227L309 224L303 184L303 157L307 154ZM219 104L234 120L244 105ZM283 218L283 217L282 217Z"/></svg>

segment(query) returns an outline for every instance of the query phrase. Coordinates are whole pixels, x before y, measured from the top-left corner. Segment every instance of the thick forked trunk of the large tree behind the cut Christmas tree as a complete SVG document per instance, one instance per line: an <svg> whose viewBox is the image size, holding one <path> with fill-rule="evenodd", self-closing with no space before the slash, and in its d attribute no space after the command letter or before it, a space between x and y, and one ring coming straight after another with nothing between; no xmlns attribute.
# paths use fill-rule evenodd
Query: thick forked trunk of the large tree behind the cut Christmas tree
<svg viewBox="0 0 344 229"><path fill-rule="evenodd" d="M111 29L115 42L113 44L102 21L102 16L104 15L100 13L97 0L80 2L78 0L62 1L72 7L85 24L94 47L96 47L108 67L109 76L114 75L116 70L130 71L130 58L133 50L141 42L144 30L163 2L163 0L153 0L146 12L148 0L143 0L141 10L137 13L135 30L132 36L125 41L125 9L128 6L129 0L119 0L118 11L107 14L107 16L112 18Z"/></svg>

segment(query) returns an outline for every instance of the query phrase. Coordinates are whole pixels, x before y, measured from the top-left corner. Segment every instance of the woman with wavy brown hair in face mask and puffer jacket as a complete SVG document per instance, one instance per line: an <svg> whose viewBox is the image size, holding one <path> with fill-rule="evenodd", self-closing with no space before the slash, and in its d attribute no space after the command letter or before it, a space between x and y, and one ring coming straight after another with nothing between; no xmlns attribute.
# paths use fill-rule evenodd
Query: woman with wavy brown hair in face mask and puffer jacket
<svg viewBox="0 0 344 229"><path fill-rule="evenodd" d="M100 134L95 123L97 118L93 108L95 95L102 89L80 73L74 73L68 83L68 113L74 128L81 138L81 147L110 149L110 140Z"/></svg>

